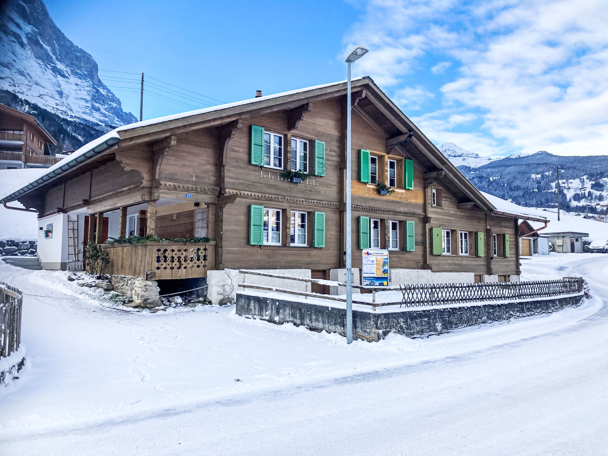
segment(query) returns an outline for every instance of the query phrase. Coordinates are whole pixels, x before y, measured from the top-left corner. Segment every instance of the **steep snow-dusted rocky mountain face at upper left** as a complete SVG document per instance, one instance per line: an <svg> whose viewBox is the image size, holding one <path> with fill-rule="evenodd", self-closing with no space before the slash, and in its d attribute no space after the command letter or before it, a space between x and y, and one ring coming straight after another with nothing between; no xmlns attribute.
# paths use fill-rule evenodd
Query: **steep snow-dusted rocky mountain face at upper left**
<svg viewBox="0 0 608 456"><path fill-rule="evenodd" d="M103 130L137 121L99 79L94 58L58 29L41 0L0 3L0 89Z"/></svg>

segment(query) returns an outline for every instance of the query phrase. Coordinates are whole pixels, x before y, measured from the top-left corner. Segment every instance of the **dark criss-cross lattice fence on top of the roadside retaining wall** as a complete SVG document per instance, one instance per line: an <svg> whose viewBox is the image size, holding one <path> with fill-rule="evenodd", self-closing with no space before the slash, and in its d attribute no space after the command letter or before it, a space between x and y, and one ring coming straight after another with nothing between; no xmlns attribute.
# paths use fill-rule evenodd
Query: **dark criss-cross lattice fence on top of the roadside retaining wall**
<svg viewBox="0 0 608 456"><path fill-rule="evenodd" d="M406 307L460 304L467 302L538 299L582 292L581 277L529 282L446 283L401 285ZM394 304L394 303L392 303ZM376 304L382 306L388 304Z"/></svg>

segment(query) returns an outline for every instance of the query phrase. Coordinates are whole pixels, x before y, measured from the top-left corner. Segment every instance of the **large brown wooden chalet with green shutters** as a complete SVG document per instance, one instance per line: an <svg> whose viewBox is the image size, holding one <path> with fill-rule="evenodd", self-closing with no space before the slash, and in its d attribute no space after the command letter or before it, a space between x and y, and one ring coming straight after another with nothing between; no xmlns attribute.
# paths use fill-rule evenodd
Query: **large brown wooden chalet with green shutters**
<svg viewBox="0 0 608 456"><path fill-rule="evenodd" d="M61 233L61 246L38 244L46 268L80 259L87 241L153 233L212 241L108 246L109 274L306 269L330 278L345 268L351 179L354 268L361 249L379 247L390 250L393 283L421 270L519 280L522 215L496 210L369 77L353 80L345 175L346 91L342 81L126 125L3 202L37 210L41 236ZM290 182L289 170L309 177Z"/></svg>

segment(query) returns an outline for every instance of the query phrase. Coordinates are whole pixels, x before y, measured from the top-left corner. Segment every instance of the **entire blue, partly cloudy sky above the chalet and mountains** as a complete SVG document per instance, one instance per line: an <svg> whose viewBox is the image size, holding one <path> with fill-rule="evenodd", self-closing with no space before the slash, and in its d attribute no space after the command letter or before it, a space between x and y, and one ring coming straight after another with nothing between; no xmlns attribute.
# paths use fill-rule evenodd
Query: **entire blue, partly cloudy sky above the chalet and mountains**
<svg viewBox="0 0 608 456"><path fill-rule="evenodd" d="M608 153L605 1L46 5L100 69L143 71L222 102L342 80L345 53L364 44L370 53L354 75L371 75L437 145L482 156ZM137 75L100 75L127 78L106 78L109 86L137 86L129 80ZM175 97L150 82L156 94ZM138 93L115 93L139 116ZM190 109L149 96L144 119Z"/></svg>

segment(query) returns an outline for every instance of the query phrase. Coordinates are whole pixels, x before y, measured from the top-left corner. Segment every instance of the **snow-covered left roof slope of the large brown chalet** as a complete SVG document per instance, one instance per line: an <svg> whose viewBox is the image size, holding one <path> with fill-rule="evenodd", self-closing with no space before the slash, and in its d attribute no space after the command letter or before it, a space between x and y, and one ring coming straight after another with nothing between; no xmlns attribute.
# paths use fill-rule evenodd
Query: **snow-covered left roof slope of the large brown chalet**
<svg viewBox="0 0 608 456"><path fill-rule="evenodd" d="M369 76L360 76L360 77L352 78L351 81L354 82L354 81L360 81L363 79L371 80L371 78ZM9 195L9 193L4 193L4 195L0 196L0 198L2 198L2 202L14 201L16 198L18 198L19 195L29 192L29 190L32 190L33 188L38 187L38 185L42 185L44 182L48 181L49 179L54 178L58 174L62 174L64 172L70 170L71 168L74 168L81 162L94 156L95 154L101 153L103 150L110 147L111 145L114 145L115 143L117 143L119 141L119 139L120 139L119 132L120 131L134 130L136 128L140 128L143 126L156 125L157 123L169 122L171 120L184 119L186 117L198 116L199 114L206 114L207 112L213 112L213 111L221 111L221 109L234 108L235 106L244 106L244 105L249 105L249 104L253 104L253 103L260 103L260 102L264 102L266 100L272 100L273 98L285 97L288 95L299 94L302 92L308 92L308 91L315 90L315 89L323 89L323 88L337 86L337 85L341 85L341 84L345 84L345 83L347 83L346 80L337 81L337 82L333 82L333 83L329 83L329 84L322 84L319 86L305 87L303 89L297 89L297 90L292 90L292 91L288 91L288 92L280 92L278 94L273 94L273 95L265 95L264 97L249 98L247 100L242 100L240 102L225 103L224 105L212 106L210 108L204 108L204 109L196 109L195 111L181 112L179 114L173 114L171 116L156 117L156 119L142 120L142 122L135 122L135 123L130 123L128 125L119 126L117 128L114 128L114 130L109 131L108 133L104 134L103 136L100 136L97 139L94 139L91 142L83 145L83 147L79 148L78 150L76 150L74 153L72 153L69 156L69 160L63 159L60 162L58 162L57 164L48 168L47 173L44 174L43 176L41 176L40 178L36 179L35 181L29 182L29 184L27 184L25 187L19 188L16 191L13 190L13 188L11 188L9 190L9 192L11 192L10 195Z"/></svg>

